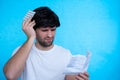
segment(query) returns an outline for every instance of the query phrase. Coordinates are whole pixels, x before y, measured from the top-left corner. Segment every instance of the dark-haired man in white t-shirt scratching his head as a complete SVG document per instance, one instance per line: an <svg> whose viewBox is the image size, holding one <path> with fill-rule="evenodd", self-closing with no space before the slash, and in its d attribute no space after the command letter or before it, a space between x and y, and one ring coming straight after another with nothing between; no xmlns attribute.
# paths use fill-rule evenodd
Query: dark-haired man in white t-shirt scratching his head
<svg viewBox="0 0 120 80"><path fill-rule="evenodd" d="M34 10L35 15L23 22L26 42L17 48L4 67L8 80L88 80L88 73L65 75L71 53L53 44L58 16L48 7ZM36 42L34 44L34 40Z"/></svg>

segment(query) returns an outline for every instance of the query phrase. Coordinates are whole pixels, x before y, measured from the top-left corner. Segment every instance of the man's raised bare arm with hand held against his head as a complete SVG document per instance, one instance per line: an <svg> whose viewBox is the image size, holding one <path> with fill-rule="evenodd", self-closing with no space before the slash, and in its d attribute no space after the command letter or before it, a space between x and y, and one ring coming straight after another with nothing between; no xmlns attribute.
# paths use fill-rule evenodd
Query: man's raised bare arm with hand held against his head
<svg viewBox="0 0 120 80"><path fill-rule="evenodd" d="M36 37L33 29L34 25L35 22L31 22L31 18L23 22L22 29L28 39L4 66L4 73L8 80L16 80L21 75L25 67L26 60Z"/></svg>

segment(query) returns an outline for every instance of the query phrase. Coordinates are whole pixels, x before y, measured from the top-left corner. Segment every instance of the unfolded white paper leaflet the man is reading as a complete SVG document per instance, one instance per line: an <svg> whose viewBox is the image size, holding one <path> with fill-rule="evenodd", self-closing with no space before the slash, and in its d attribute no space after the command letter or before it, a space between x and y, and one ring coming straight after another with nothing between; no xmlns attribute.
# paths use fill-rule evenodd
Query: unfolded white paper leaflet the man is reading
<svg viewBox="0 0 120 80"><path fill-rule="evenodd" d="M64 74L78 74L87 71L91 54L73 55L71 61L64 71Z"/></svg>

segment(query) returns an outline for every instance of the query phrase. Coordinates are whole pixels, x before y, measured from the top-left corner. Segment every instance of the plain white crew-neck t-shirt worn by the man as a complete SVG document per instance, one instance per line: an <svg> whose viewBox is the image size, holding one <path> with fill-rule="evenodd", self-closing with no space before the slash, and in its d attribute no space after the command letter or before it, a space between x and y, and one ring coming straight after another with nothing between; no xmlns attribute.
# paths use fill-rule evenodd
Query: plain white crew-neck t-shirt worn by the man
<svg viewBox="0 0 120 80"><path fill-rule="evenodd" d="M54 45L52 49L42 51L33 45L20 78L21 80L64 80L63 72L70 58L70 51L60 46Z"/></svg>

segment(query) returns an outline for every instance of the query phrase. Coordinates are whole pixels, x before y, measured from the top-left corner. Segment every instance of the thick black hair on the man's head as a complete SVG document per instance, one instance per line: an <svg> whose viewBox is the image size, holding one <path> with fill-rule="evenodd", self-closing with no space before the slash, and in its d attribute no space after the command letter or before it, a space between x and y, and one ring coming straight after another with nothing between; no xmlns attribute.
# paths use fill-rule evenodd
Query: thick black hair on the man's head
<svg viewBox="0 0 120 80"><path fill-rule="evenodd" d="M58 16L48 7L39 7L34 10L35 15L32 20L35 20L34 29L39 27L59 27L60 22Z"/></svg>

